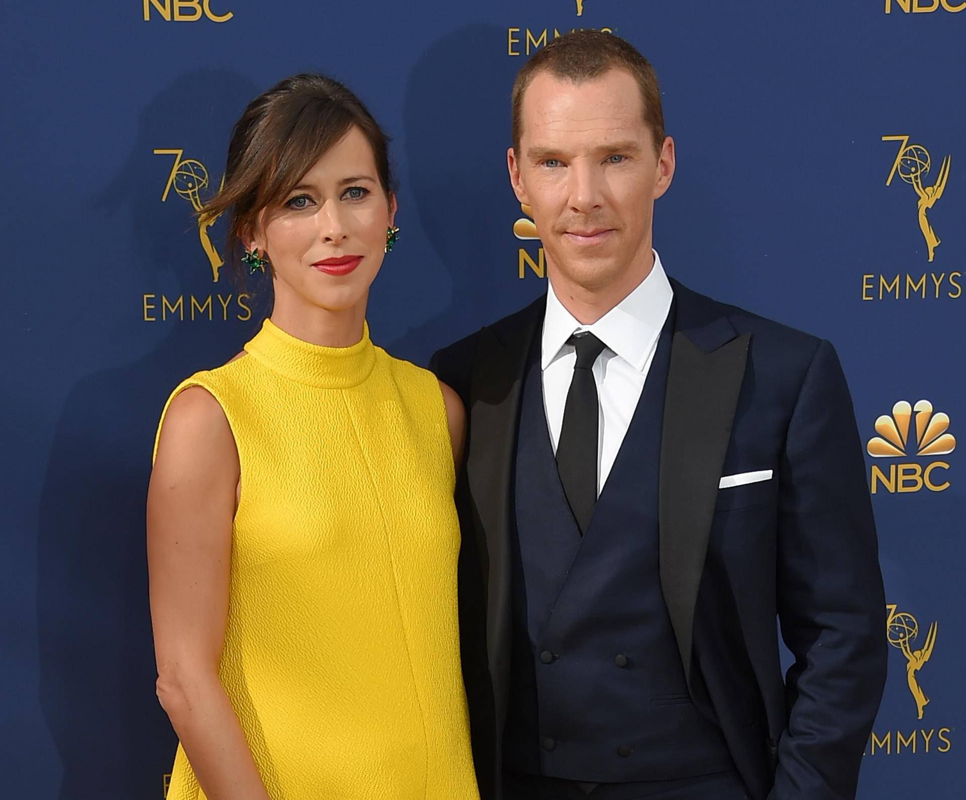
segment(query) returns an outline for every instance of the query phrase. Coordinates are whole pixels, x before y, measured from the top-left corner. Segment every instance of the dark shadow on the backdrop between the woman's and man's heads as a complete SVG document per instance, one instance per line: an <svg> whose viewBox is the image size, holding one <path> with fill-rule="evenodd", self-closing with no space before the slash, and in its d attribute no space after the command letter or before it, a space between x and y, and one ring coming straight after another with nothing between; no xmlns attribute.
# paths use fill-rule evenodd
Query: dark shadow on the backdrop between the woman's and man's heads
<svg viewBox="0 0 966 800"><path fill-rule="evenodd" d="M506 172L510 90L523 59L495 58L505 47L505 29L458 28L430 45L406 85L407 179L423 231L452 279L449 305L389 347L416 363L525 305L506 291L516 281L519 242L511 229L521 215ZM543 290L542 282L534 286Z"/></svg>

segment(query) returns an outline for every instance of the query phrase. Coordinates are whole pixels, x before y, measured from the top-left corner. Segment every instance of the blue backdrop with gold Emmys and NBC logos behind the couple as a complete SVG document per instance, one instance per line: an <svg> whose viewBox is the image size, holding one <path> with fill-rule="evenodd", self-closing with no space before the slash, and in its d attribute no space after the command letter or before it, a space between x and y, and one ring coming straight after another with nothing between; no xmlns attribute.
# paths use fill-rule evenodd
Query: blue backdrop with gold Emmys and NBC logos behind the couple
<svg viewBox="0 0 966 800"><path fill-rule="evenodd" d="M175 736L155 698L145 489L168 392L264 314L264 285L240 291L222 266L224 219L193 217L245 103L321 70L392 135L402 238L369 320L424 364L545 289L506 177L509 90L577 27L634 42L662 80L668 272L838 347L892 645L860 797L963 796L966 2L53 0L2 16L5 796L163 796Z"/></svg>

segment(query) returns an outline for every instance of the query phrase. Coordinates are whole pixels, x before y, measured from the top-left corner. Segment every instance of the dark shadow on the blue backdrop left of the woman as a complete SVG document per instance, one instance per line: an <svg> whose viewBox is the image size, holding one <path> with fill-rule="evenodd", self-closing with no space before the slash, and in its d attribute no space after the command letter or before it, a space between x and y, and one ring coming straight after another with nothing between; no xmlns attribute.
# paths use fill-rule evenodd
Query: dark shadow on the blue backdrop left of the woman
<svg viewBox="0 0 966 800"><path fill-rule="evenodd" d="M133 150L90 211L105 231L119 212L132 226L132 263L106 264L102 276L132 269L145 292L185 299L236 293L227 274L213 283L190 204L174 191L159 203L171 165L153 151L184 147L185 157L204 158L216 189L231 124L256 94L237 74L198 70L144 109ZM141 317L140 296L111 297L103 280L91 289L108 295L103 308L121 310L118 330ZM145 555L151 452L170 391L241 349L259 315L235 317L158 315L151 324L165 326L166 336L155 349L78 381L58 422L41 500L38 622L41 705L63 763L60 800L161 797L176 738L155 696ZM150 334L154 340L156 328Z"/></svg>

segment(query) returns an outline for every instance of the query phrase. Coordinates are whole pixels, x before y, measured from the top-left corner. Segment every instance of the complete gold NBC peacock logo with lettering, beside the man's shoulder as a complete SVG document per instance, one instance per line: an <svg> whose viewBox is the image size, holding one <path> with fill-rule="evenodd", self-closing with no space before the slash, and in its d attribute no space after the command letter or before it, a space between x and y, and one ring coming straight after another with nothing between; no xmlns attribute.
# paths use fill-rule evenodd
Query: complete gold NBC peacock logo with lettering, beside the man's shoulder
<svg viewBox="0 0 966 800"><path fill-rule="evenodd" d="M893 413L883 414L875 421L875 432L868 440L866 451L873 458L902 458L949 455L956 449L956 440L950 428L949 414L934 413L929 400L919 400L915 405L899 400ZM873 463L871 466L871 492L879 487L890 493L917 492L923 487L930 491L945 491L950 487L947 480L940 481L934 473L950 469L949 463L933 460L925 467L919 462L891 463L888 473Z"/></svg>

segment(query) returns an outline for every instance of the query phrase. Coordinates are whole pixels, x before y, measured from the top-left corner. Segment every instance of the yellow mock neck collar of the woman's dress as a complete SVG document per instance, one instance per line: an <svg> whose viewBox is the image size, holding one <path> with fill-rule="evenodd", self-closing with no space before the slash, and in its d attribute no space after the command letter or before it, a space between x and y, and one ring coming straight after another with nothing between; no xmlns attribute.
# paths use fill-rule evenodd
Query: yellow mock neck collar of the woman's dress
<svg viewBox="0 0 966 800"><path fill-rule="evenodd" d="M321 389L358 386L376 364L376 348L369 339L367 322L355 345L325 347L296 339L266 319L244 349L272 372Z"/></svg>

